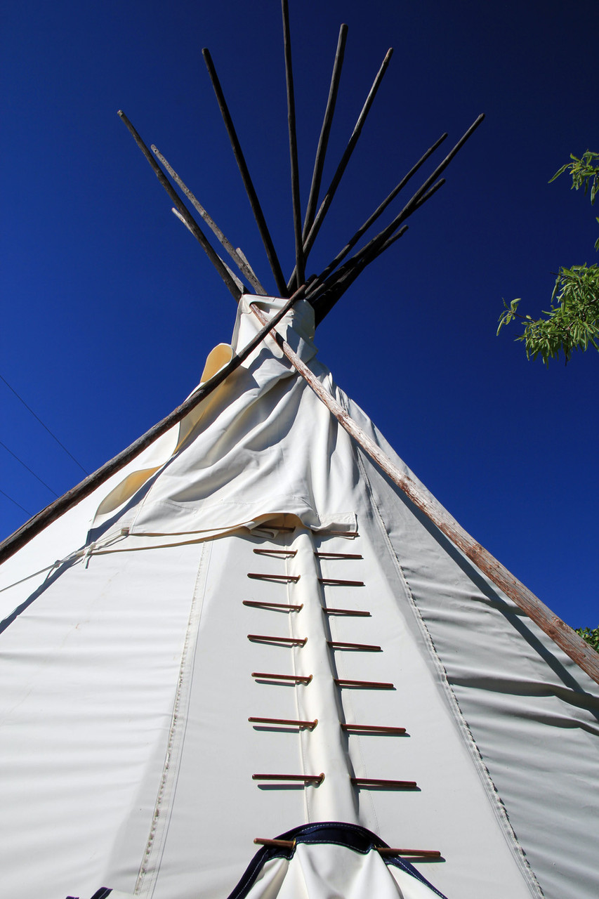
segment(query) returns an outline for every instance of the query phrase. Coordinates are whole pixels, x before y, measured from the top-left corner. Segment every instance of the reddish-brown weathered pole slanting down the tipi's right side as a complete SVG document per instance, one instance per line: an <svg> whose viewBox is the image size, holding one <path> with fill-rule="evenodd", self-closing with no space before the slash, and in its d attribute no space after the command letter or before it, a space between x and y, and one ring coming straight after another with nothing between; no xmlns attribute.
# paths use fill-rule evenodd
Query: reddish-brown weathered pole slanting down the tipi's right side
<svg viewBox="0 0 599 899"><path fill-rule="evenodd" d="M264 313L255 305L252 305L252 310L257 319L264 324L266 320ZM470 537L469 533L451 517L449 512L443 509L441 503L438 503L433 497L427 496L411 477L408 477L391 461L382 449L371 440L368 434L362 431L360 425L353 421L353 418L345 411L343 406L339 405L335 398L326 391L325 387L308 369L308 366L299 359L297 353L291 350L289 343L286 343L280 334L273 334L273 338L287 359L290 360L291 365L299 371L301 377L314 390L318 399L326 405L331 414L335 415L336 420L360 444L364 452L407 495L410 502L414 503L421 512L424 512L435 527L441 530L477 566L482 574L486 574L500 590L503 590L514 601L516 606L522 609L542 631L550 636L559 645L559 648L576 662L595 683L599 683L599 653L596 653L595 649L586 644L585 640L576 631L572 630L565 621L559 619L544 602L514 577L514 574L511 574L495 556L492 556L487 549L481 547L473 537Z"/></svg>

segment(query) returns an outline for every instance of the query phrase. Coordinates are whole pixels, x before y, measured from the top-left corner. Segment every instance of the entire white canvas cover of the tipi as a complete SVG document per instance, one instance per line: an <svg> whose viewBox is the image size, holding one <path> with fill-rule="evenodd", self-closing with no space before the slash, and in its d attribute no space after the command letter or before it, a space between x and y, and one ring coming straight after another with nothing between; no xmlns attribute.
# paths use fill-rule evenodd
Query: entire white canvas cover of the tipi
<svg viewBox="0 0 599 899"><path fill-rule="evenodd" d="M259 327L253 299L233 350ZM406 469L318 360L308 303L278 330ZM416 868L448 899L595 899L596 684L380 474L273 341L0 574L6 895L225 899L255 837L338 822L441 850ZM248 895L433 889L358 855L299 845Z"/></svg>

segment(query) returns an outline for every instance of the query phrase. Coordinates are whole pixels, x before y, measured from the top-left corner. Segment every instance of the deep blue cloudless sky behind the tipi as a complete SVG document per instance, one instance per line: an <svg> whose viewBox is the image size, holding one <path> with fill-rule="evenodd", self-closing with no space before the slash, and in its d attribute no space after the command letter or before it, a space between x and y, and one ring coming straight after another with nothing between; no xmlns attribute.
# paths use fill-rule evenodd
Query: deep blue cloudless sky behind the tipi
<svg viewBox="0 0 599 899"><path fill-rule="evenodd" d="M460 523L573 626L596 626L599 356L496 338L552 271L595 262L594 210L550 176L596 127L596 0L291 0L305 203L341 22L325 181L389 71L308 264L317 271L444 130L487 120L447 183L317 331L338 383ZM283 269L293 234L278 0L4 6L0 374L88 471L177 405L235 304L116 115L156 143L268 281L201 58L208 46ZM441 156L439 152L439 156ZM399 200L398 200L399 202ZM0 439L57 494L81 471L0 382ZM53 496L0 447L0 489ZM0 494L0 537L26 515Z"/></svg>

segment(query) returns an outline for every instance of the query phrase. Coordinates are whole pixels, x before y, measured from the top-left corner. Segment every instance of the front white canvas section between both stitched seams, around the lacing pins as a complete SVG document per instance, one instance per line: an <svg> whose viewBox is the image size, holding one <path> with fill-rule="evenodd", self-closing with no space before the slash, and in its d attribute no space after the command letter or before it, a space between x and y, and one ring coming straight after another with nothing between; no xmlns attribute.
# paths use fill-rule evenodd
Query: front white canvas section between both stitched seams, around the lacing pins
<svg viewBox="0 0 599 899"><path fill-rule="evenodd" d="M312 539L306 529L281 535L276 547L297 550L286 561L256 556L254 548L273 542L255 536L211 544L197 645L189 654L188 704L178 709L184 734L171 753L156 806L158 823L148 841L139 895L185 899L194 885L201 885L202 899L228 895L253 854L255 837L273 837L310 821L341 820L380 833L390 845L442 850L447 860L434 866L433 879L449 896L503 899L506 891L513 899L530 896L426 654L416 645L413 614L391 556L371 542L370 529L364 511L356 539ZM320 572L315 547L363 558L323 560ZM256 581L248 572L299 574L299 581ZM323 589L319 574L362 579L366 585ZM303 609L255 609L243 605L248 598L303 603ZM371 619L325 616L321 603L366 607ZM308 643L266 645L250 642L247 634L307 636ZM326 639L381 645L382 652L331 654ZM251 672L312 674L313 680L290 687L256 681ZM392 681L396 690L335 690L334 676ZM298 731L250 725L248 716L317 718L318 724L313 731ZM409 735L348 739L340 720L406 726ZM318 787L252 780L255 773L321 771L326 777ZM419 789L356 790L351 776L415 779ZM111 883L121 886L114 878Z"/></svg>

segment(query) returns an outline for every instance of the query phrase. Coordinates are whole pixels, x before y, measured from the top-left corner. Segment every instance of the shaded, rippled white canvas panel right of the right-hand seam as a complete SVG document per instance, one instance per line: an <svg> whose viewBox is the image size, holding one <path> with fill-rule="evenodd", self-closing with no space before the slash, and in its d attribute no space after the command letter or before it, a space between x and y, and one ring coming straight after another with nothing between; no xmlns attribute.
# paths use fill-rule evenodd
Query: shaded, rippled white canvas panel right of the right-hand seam
<svg viewBox="0 0 599 899"><path fill-rule="evenodd" d="M403 464L351 401L349 411ZM595 899L599 688L362 459L408 591L544 895Z"/></svg>

